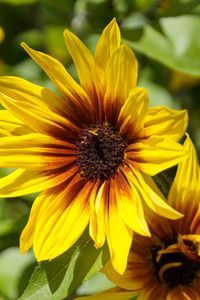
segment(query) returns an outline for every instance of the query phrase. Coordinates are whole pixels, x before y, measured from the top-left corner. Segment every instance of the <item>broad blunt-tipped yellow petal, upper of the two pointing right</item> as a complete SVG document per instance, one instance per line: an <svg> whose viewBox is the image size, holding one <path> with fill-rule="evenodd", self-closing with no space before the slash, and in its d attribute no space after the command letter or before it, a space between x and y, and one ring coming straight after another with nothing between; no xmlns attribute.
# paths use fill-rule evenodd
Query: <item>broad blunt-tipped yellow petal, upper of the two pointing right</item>
<svg viewBox="0 0 200 300"><path fill-rule="evenodd" d="M188 125L186 110L174 110L164 106L149 109L145 122L145 135L164 136L165 138L179 141Z"/></svg>

